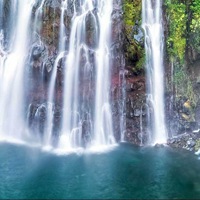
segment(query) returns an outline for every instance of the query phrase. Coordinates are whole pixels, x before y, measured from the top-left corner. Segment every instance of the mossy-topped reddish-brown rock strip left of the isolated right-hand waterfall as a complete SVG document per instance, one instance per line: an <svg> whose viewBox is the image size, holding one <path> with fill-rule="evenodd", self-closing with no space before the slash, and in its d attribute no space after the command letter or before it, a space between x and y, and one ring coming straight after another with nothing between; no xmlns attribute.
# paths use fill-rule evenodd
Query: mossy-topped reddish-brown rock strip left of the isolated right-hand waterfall
<svg viewBox="0 0 200 200"><path fill-rule="evenodd" d="M125 139L144 145L147 131L148 105L146 104L144 35L141 28L142 1L123 1L124 55L126 90Z"/></svg>

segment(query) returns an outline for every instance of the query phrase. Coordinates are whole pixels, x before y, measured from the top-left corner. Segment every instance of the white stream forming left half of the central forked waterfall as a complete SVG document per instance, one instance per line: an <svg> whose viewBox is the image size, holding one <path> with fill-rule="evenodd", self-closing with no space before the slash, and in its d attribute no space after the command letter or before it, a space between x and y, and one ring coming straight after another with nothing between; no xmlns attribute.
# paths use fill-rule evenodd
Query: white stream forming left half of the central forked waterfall
<svg viewBox="0 0 200 200"><path fill-rule="evenodd" d="M73 3L74 15L70 33L69 52L66 58L65 85L64 85L64 104L62 119L62 135L59 146L61 148L75 148L81 146L80 137L82 135L80 127L80 105L78 97L79 87L79 68L81 50L85 50L85 18L93 8L92 2L84 2L80 5L80 13L76 10ZM74 139L77 138L77 139Z"/></svg>

